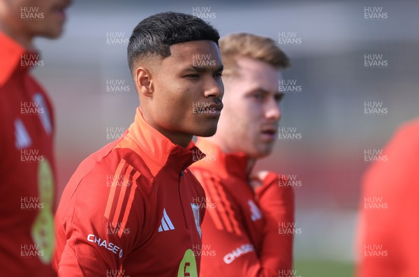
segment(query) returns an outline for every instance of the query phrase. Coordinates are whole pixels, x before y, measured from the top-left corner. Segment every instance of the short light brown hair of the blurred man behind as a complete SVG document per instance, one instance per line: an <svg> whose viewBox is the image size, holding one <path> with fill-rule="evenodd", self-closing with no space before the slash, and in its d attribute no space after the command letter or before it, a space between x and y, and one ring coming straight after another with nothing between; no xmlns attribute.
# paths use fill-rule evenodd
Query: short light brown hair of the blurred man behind
<svg viewBox="0 0 419 277"><path fill-rule="evenodd" d="M272 38L256 36L251 33L232 33L219 41L223 75L235 75L237 59L240 57L256 59L282 69L290 66L286 54L275 44Z"/></svg>

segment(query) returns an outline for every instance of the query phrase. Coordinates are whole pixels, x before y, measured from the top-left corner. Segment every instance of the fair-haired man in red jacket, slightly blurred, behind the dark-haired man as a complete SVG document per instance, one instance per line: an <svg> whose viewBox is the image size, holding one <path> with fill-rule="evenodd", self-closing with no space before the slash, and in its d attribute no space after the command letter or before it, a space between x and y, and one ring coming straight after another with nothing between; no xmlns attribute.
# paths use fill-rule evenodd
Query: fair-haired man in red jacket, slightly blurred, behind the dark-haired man
<svg viewBox="0 0 419 277"><path fill-rule="evenodd" d="M253 172L277 140L288 57L272 39L249 33L222 38L220 51L224 109L216 134L198 137L206 156L192 165L206 194L196 249L201 276L290 276L293 234L280 234L279 226L294 223L293 189L274 172Z"/></svg>

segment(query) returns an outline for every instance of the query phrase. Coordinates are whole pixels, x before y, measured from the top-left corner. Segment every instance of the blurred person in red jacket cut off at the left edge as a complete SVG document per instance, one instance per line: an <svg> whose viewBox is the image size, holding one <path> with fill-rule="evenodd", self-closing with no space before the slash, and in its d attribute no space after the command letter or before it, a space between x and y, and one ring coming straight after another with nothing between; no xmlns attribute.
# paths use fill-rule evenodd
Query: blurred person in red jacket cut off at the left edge
<svg viewBox="0 0 419 277"><path fill-rule="evenodd" d="M50 100L30 70L68 0L0 0L0 276L54 276L56 176Z"/></svg>

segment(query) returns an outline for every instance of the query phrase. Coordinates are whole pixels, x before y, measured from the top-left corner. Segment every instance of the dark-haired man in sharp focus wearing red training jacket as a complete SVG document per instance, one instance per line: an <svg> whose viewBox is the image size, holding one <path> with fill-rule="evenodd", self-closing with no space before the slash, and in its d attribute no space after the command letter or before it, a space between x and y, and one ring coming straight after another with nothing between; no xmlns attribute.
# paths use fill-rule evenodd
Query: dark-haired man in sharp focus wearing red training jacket
<svg viewBox="0 0 419 277"><path fill-rule="evenodd" d="M198 276L204 191L187 168L193 135L216 131L223 69L218 32L159 13L135 27L128 63L140 98L124 135L84 160L61 197L59 276ZM211 57L211 66L195 63ZM194 113L204 103L212 112Z"/></svg>

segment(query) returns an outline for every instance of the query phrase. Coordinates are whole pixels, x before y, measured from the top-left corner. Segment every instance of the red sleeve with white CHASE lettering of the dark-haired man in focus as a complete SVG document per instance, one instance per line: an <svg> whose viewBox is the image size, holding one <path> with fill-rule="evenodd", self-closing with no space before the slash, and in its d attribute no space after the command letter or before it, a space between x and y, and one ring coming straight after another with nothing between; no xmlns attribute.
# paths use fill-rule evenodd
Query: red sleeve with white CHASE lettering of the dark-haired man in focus
<svg viewBox="0 0 419 277"><path fill-rule="evenodd" d="M135 181L119 179L115 184L100 177L105 175L91 173L84 177L71 197L69 208L64 213L60 208L57 212L61 218L58 225L56 222L60 228L58 241L64 241L61 255L54 257L59 261L59 277L117 276L133 249L133 241L140 232L138 225L143 222L140 210L144 211L134 206L144 202ZM136 176L137 173L131 174L133 179Z"/></svg>

